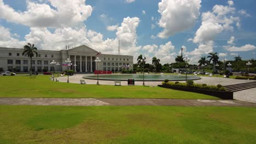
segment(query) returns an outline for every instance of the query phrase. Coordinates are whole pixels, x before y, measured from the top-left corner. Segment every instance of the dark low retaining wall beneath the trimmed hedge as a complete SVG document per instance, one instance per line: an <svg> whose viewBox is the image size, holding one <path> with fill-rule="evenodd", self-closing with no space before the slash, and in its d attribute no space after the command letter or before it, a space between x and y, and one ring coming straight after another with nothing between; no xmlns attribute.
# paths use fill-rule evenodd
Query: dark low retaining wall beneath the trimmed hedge
<svg viewBox="0 0 256 144"><path fill-rule="evenodd" d="M166 86L166 85L158 85L158 86L163 87L163 88L175 89L175 90L179 90L179 91L212 95L212 96L218 97L220 99L233 99L233 92L210 91L210 90L206 90L206 89L197 89L197 88L189 88L189 87L174 87L174 86Z"/></svg>

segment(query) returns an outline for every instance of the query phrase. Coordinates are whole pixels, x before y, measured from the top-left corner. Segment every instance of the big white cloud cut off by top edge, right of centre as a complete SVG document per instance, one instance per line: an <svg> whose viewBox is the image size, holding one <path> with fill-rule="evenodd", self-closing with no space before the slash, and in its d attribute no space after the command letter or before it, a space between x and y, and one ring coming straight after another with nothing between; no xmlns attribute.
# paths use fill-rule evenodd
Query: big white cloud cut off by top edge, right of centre
<svg viewBox="0 0 256 144"><path fill-rule="evenodd" d="M161 18L158 25L164 30L160 38L168 38L194 26L200 15L201 0L162 0L158 3Z"/></svg>

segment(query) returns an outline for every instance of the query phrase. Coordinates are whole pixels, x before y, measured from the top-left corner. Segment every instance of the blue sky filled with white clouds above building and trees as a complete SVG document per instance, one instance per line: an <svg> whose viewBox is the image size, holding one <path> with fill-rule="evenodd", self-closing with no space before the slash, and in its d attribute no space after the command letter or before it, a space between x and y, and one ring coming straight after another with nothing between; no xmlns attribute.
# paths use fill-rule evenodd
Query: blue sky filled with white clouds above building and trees
<svg viewBox="0 0 256 144"><path fill-rule="evenodd" d="M161 63L256 58L255 0L0 0L0 47L61 50L88 45L103 53Z"/></svg>

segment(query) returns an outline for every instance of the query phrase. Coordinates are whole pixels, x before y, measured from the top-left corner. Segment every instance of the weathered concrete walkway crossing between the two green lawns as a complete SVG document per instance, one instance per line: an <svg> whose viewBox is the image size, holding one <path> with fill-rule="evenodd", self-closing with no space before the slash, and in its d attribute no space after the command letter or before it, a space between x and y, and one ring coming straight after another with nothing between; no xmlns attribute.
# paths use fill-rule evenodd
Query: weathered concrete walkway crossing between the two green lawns
<svg viewBox="0 0 256 144"><path fill-rule="evenodd" d="M0 98L0 105L63 105L63 106L252 106L256 104L236 100L206 99L120 99L120 98Z"/></svg>

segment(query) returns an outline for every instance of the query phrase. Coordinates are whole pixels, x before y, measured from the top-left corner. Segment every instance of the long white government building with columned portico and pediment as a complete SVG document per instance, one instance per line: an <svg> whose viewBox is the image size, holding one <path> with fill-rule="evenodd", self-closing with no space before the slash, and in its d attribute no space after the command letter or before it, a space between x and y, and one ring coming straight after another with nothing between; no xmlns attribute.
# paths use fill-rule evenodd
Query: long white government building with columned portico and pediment
<svg viewBox="0 0 256 144"><path fill-rule="evenodd" d="M23 49L0 47L0 68L4 71L11 71L15 68L20 72L27 72L30 69L30 58L22 56ZM43 69L48 71L64 71L67 70L65 64L67 58L72 61L73 69L80 73L92 73L97 70L96 57L101 59L98 63L98 70L120 71L121 69L131 70L133 64L133 56L125 55L108 55L82 45L73 49L52 51L38 50L38 57L32 58L32 70L41 72ZM60 65L51 65L51 61L59 62ZM77 64L74 67L74 64Z"/></svg>

